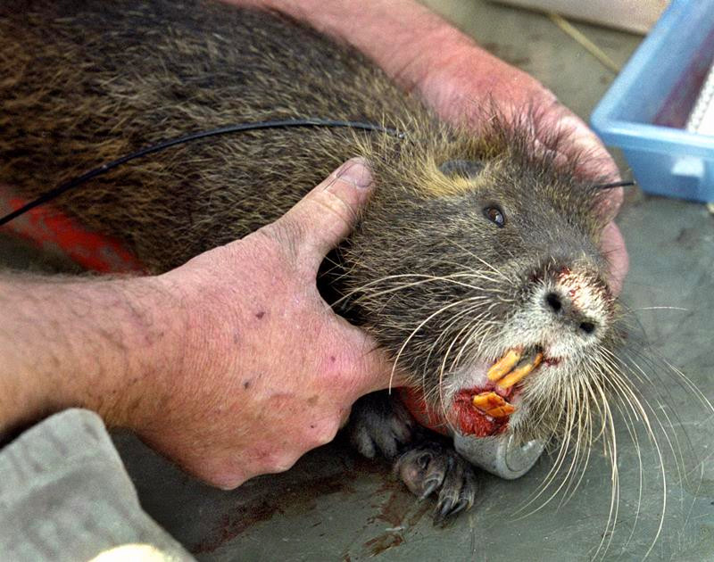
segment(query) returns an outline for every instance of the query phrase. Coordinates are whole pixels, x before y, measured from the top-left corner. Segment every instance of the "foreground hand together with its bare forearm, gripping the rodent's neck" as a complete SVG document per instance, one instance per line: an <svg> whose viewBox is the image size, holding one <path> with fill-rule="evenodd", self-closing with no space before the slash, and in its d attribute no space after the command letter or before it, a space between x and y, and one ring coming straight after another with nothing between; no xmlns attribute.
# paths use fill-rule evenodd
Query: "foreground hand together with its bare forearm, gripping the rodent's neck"
<svg viewBox="0 0 714 562"><path fill-rule="evenodd" d="M0 276L0 439L93 409L223 488L331 441L393 371L316 285L372 187L348 161L281 219L158 277Z"/></svg>

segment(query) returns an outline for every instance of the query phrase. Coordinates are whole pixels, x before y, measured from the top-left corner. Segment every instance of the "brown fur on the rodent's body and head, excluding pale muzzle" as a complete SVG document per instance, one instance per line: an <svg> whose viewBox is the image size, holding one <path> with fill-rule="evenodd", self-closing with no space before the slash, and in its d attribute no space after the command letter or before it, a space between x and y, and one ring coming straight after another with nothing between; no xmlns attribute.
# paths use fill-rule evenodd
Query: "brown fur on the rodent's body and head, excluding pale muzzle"
<svg viewBox="0 0 714 562"><path fill-rule="evenodd" d="M277 219L339 163L367 157L378 190L333 286L435 401L444 366L504 351L499 330L533 279L567 265L604 287L597 194L575 178L574 163L537 155L529 126L494 120L476 137L444 125L360 54L294 22L198 0L4 2L0 57L0 179L28 195L162 139L238 122L317 117L403 131L403 140L333 128L215 137L132 162L56 204L159 272ZM484 169L447 177L438 167L453 160ZM484 217L494 203L506 210L505 228ZM460 271L488 278L454 283ZM432 282L404 287L406 276ZM492 299L477 329L453 314L417 329L474 294ZM602 318L596 340L608 349L611 320ZM449 349L463 350L460 359ZM582 372L588 360L569 369ZM533 411L535 433L564 415L545 402Z"/></svg>

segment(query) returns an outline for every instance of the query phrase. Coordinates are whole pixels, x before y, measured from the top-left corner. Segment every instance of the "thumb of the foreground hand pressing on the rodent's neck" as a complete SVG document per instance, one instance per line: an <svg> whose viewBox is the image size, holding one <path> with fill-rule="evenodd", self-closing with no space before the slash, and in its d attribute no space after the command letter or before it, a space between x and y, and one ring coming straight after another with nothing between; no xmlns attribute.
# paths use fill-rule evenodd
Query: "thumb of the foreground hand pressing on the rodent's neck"
<svg viewBox="0 0 714 562"><path fill-rule="evenodd" d="M330 250L352 232L374 183L369 164L353 158L287 211L273 226L300 233L295 241L298 260L317 271Z"/></svg>

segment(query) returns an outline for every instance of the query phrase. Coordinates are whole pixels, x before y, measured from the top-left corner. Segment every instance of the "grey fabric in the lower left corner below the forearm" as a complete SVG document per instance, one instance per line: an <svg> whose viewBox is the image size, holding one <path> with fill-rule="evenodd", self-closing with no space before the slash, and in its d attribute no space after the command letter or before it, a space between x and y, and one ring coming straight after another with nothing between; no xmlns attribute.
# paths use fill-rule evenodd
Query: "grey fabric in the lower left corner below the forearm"
<svg viewBox="0 0 714 562"><path fill-rule="evenodd" d="M136 543L164 555L149 559L194 559L142 511L94 412L55 414L0 450L0 560L88 560Z"/></svg>

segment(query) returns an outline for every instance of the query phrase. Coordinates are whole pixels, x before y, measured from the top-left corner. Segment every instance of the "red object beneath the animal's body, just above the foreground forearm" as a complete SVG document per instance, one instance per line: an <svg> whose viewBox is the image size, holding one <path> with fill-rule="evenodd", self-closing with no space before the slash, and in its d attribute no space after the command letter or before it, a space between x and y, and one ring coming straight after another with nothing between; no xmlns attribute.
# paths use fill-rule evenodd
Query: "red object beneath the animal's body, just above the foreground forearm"
<svg viewBox="0 0 714 562"><path fill-rule="evenodd" d="M27 201L0 184L0 216L20 209ZM2 227L46 251L62 253L83 268L100 273L143 272L141 263L118 240L90 232L61 211L41 205Z"/></svg>

